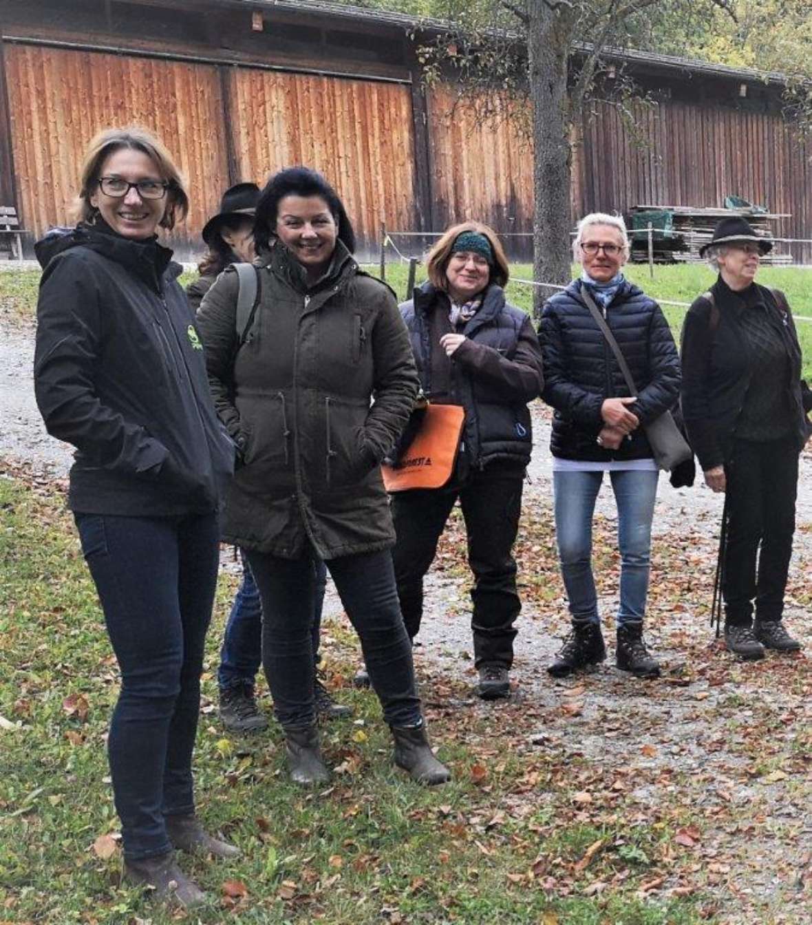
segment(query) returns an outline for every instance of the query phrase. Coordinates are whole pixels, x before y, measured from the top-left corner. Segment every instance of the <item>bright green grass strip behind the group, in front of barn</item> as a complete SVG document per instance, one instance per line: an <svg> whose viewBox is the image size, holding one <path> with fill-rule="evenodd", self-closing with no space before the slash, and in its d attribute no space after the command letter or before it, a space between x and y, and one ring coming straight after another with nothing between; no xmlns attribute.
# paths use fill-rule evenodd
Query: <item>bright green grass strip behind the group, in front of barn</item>
<svg viewBox="0 0 812 925"><path fill-rule="evenodd" d="M368 265L370 273L377 273L377 265ZM511 267L514 279L532 279L533 268L529 264L514 264ZM627 265L625 274L655 299L671 302L693 302L697 295L705 292L716 278L709 267L700 264L660 266L654 268L654 278L648 273L647 265ZM574 273L574 268L573 268ZM399 299L406 298L408 266L403 263L387 265L387 282ZM184 274L180 282L186 285L194 274ZM423 266L417 267L417 282L425 278ZM38 270L6 271L0 273L0 316L6 311L17 319L30 318L36 309ZM812 270L792 266L766 266L759 271L758 281L764 286L783 290L795 315L812 318ZM550 290L551 291L551 290ZM533 304L533 288L511 282L508 298L515 305L529 312ZM679 341L683 326L685 308L663 305L663 311L671 324L674 338ZM804 353L803 375L812 381L812 321L798 321L798 339Z"/></svg>

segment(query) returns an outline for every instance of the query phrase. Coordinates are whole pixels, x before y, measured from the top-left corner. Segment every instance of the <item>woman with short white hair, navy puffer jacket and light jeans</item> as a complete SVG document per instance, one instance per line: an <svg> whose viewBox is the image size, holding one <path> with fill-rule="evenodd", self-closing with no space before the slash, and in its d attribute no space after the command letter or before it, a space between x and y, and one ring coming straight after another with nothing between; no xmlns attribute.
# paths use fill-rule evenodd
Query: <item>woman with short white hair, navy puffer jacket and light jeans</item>
<svg viewBox="0 0 812 925"><path fill-rule="evenodd" d="M620 216L585 216L572 253L581 277L547 300L540 331L543 397L555 409L550 450L556 538L572 618L572 631L547 671L563 677L606 658L592 573L592 521L608 473L621 551L617 666L637 677L656 677L659 665L643 638L658 483L645 425L677 401L680 360L657 302L623 277L629 240ZM636 398L589 302L618 342Z"/></svg>

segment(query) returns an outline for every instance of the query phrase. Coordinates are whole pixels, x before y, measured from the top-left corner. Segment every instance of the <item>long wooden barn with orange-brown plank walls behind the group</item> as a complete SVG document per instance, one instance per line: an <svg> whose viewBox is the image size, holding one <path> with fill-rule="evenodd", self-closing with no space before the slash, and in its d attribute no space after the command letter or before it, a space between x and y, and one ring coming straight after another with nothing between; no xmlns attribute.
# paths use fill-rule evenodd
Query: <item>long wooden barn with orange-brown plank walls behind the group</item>
<svg viewBox="0 0 812 925"><path fill-rule="evenodd" d="M475 217L528 232L530 149L510 120L481 125L455 106L451 84L424 86L418 52L433 28L286 0L0 0L0 206L18 210L30 247L68 220L92 134L141 123L190 180L191 214L172 240L182 256L200 249L229 184L296 163L333 181L366 253L382 223L432 231ZM575 153L573 216L721 206L734 194L790 215L783 236L810 235L812 151L781 119L779 80L624 60L657 103L635 110L649 143L636 146L617 112L596 105ZM422 244L395 240L412 253ZM526 248L511 240L513 253Z"/></svg>

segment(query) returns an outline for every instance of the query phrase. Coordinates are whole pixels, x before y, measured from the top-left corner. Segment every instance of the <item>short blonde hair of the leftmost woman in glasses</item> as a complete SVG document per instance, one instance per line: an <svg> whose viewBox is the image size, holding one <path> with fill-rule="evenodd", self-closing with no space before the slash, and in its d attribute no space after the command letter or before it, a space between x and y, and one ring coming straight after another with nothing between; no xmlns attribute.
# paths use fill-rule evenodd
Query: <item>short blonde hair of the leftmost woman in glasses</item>
<svg viewBox="0 0 812 925"><path fill-rule="evenodd" d="M169 184L166 191L166 209L159 224L161 228L171 231L175 228L176 221L183 221L189 213L186 183L164 143L152 132L138 125L126 129L103 129L93 136L81 165L80 191L73 205L74 218L88 223L95 219L98 210L92 205L91 196L102 175L102 167L110 154L122 148L146 154L153 161L161 178Z"/></svg>

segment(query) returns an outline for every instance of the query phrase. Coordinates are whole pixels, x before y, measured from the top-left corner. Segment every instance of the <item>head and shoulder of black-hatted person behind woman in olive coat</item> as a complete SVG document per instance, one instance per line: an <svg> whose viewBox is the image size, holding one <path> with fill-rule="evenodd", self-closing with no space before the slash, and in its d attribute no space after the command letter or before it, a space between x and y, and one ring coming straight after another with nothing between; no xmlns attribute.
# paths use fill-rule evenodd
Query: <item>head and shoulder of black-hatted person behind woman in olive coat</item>
<svg viewBox="0 0 812 925"><path fill-rule="evenodd" d="M220 211L203 226L206 253L197 265L200 276L186 287L192 311L229 264L250 264L253 250L253 213L259 199L256 183L238 183L223 193Z"/></svg>

